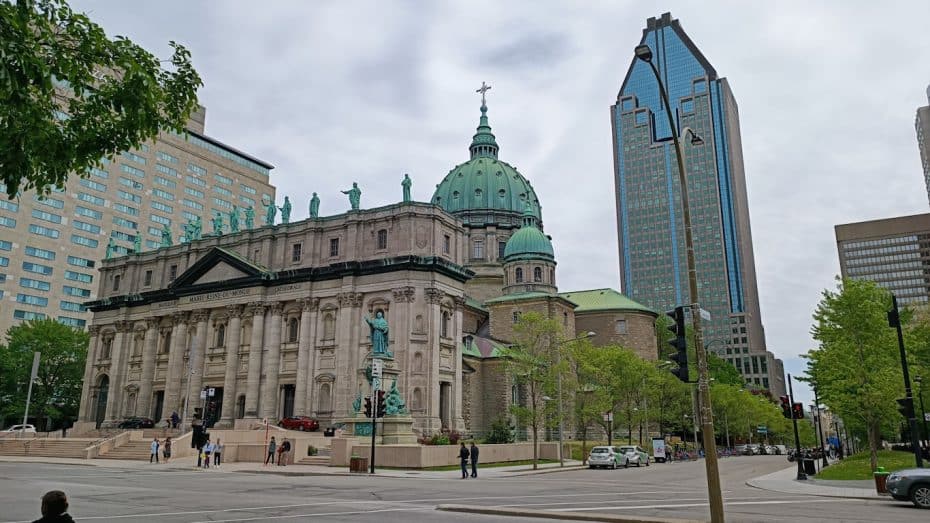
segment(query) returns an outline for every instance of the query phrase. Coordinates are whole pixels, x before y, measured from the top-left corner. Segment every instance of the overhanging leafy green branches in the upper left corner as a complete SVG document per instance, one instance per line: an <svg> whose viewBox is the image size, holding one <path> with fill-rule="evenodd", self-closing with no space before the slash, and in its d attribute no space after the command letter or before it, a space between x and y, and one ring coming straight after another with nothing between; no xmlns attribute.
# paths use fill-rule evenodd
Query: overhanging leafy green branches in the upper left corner
<svg viewBox="0 0 930 523"><path fill-rule="evenodd" d="M63 187L101 157L183 132L203 85L184 46L171 70L64 0L0 1L0 181L10 198Z"/></svg>

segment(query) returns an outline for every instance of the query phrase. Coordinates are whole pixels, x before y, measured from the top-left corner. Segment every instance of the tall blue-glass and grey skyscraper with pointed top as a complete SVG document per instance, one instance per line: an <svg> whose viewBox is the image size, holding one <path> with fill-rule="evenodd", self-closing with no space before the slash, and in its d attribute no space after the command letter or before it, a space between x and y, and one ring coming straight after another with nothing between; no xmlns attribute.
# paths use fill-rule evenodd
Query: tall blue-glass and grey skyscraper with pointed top
<svg viewBox="0 0 930 523"><path fill-rule="evenodd" d="M611 107L623 292L655 310L692 302L672 142L672 133L690 128L701 138L695 143L683 137L682 146L698 301L711 314L705 343L747 382L780 393L781 365L766 350L759 312L739 113L730 85L669 13L647 20L639 43L652 49L677 130L669 128L649 64L633 58Z"/></svg>

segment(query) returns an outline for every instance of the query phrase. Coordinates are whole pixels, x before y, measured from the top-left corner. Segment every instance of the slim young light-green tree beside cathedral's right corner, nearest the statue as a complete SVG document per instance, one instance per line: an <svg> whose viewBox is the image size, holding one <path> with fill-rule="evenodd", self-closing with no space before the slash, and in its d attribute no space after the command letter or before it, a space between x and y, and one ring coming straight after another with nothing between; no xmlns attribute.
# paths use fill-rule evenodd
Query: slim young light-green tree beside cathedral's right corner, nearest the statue
<svg viewBox="0 0 930 523"><path fill-rule="evenodd" d="M558 405L547 398L556 396L559 373L565 372L567 358L562 350L559 322L536 312L527 312L513 326L513 345L504 355L507 370L520 390L520 401L510 406L510 412L533 435L533 468L539 462L539 430L557 419Z"/></svg>

